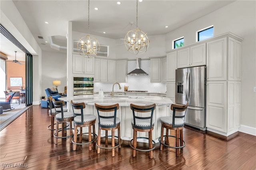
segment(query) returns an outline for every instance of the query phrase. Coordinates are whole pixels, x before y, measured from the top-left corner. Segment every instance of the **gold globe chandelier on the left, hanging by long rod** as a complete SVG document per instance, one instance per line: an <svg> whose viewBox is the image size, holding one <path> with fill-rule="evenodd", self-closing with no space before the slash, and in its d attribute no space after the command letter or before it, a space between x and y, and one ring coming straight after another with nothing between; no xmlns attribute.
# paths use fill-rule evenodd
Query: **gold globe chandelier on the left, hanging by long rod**
<svg viewBox="0 0 256 170"><path fill-rule="evenodd" d="M100 51L100 43L98 40L89 34L90 32L90 0L88 0L88 35L79 39L77 43L77 50L80 55L95 57Z"/></svg>

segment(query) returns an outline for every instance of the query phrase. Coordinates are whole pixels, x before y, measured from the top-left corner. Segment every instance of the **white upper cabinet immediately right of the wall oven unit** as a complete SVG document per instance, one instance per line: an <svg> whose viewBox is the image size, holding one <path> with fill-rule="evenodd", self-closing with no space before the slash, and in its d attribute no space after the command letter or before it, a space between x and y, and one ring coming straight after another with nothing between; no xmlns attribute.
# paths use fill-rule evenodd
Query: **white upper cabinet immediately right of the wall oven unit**
<svg viewBox="0 0 256 170"><path fill-rule="evenodd" d="M95 58L94 82L108 81L108 60Z"/></svg>

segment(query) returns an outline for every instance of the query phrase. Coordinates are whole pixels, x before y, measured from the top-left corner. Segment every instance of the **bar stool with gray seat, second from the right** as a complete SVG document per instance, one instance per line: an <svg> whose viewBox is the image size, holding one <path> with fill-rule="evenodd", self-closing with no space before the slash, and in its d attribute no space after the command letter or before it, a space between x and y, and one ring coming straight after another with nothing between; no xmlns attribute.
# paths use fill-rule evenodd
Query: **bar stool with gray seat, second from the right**
<svg viewBox="0 0 256 170"><path fill-rule="evenodd" d="M133 128L133 139L130 140L129 144L133 148L132 150L132 156L136 156L136 150L143 151L143 152L149 152L149 157L153 158L153 149L156 148L156 142L152 140L152 130L154 129L154 121L153 121L153 113L156 109L156 104L148 105L148 106L139 106L130 104L130 108L132 109L133 114L133 120L132 120L132 128ZM138 116L138 113L148 113L151 112L150 116L146 116L145 114ZM137 137L137 132L148 132L148 138L146 137ZM137 139L138 138L144 138L148 139L148 149L138 149L137 147ZM132 144L133 141L133 144ZM154 147L152 145L152 142L154 142Z"/></svg>

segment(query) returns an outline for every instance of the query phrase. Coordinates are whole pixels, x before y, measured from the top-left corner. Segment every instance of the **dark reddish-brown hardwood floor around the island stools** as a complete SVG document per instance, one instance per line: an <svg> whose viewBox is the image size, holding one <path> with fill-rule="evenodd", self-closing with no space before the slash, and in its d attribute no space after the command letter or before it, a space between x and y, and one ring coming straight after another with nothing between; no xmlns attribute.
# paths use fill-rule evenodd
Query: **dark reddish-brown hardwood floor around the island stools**
<svg viewBox="0 0 256 170"><path fill-rule="evenodd" d="M78 146L73 151L69 140L59 139L58 145L54 144L54 137L50 136L50 130L46 128L48 125L48 109L33 105L5 127L0 132L1 169L256 169L256 136L242 132L224 137L185 127L186 146L179 157L175 156L172 148L164 147L160 152L157 144L153 150L153 159L150 159L148 152L137 152L133 158L132 149L126 140L120 150L116 148L115 157L111 156L111 150L101 149L100 154L97 154L95 144L92 151L88 151L88 145ZM138 146L144 147L146 144L139 143Z"/></svg>

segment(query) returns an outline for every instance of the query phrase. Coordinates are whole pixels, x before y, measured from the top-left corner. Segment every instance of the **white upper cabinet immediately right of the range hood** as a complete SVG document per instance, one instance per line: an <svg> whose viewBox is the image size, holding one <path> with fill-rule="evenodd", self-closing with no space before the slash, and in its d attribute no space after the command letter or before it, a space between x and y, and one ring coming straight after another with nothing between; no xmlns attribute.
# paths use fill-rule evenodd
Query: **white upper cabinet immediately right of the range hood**
<svg viewBox="0 0 256 170"><path fill-rule="evenodd" d="M161 82L161 58L150 59L150 82Z"/></svg>

